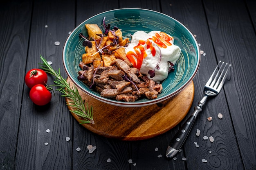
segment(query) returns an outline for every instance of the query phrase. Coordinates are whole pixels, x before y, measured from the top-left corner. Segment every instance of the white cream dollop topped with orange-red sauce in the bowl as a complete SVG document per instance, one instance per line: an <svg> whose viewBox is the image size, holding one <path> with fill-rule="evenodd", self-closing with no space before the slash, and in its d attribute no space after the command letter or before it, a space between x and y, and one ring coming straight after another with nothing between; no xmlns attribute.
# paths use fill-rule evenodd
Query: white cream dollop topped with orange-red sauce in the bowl
<svg viewBox="0 0 256 170"><path fill-rule="evenodd" d="M168 69L171 67L168 61L175 65L180 57L181 49L173 42L173 37L164 32L137 31L132 35L131 42L125 49L126 57L132 63L132 67L139 69L142 74L146 74L156 82L163 81L167 78ZM150 70L155 72L155 76L150 77L148 73Z"/></svg>

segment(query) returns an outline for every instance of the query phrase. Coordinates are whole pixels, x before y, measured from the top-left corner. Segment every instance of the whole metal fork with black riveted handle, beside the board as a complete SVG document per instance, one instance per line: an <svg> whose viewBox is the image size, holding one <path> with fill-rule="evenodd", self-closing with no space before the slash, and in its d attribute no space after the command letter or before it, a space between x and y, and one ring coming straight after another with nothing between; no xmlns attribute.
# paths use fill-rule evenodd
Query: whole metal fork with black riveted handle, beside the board
<svg viewBox="0 0 256 170"><path fill-rule="evenodd" d="M186 122L182 125L180 130L175 134L172 141L168 145L166 150L167 158L172 158L180 150L186 140L186 137L189 135L189 132L195 122L195 118L198 116L198 113L202 111L202 107L206 103L207 98L209 96L216 96L219 94L230 67L231 64L225 64L224 62L219 61L217 67L213 71L213 74L204 86L204 97L202 100L200 100L200 102L198 102L198 105L194 108L193 114L186 120Z"/></svg>

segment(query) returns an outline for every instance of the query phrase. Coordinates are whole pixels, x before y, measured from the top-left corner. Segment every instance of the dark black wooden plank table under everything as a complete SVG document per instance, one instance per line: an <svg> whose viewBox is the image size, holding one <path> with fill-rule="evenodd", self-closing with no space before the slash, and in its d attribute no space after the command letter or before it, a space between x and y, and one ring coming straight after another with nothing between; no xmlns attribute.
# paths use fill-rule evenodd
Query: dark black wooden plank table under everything
<svg viewBox="0 0 256 170"><path fill-rule="evenodd" d="M68 33L97 13L128 7L165 13L196 35L205 54L193 79L195 95L186 118L202 98L204 83L218 61L232 64L224 89L207 102L176 160L166 159L166 147L185 120L151 139L119 141L96 135L81 126L58 92L45 107L38 107L29 99L24 76L31 68L39 67L40 54L66 77L62 50ZM1 1L0 168L255 170L255 7L255 0ZM55 41L60 45L54 45ZM53 80L49 76L49 84L53 84ZM223 115L221 120L218 113ZM209 116L213 117L211 122L207 121ZM196 129L201 130L200 137L195 135ZM203 140L203 135L213 136L214 142ZM71 138L69 142L66 137ZM194 142L198 142L199 147ZM89 153L88 145L97 148ZM203 163L202 159L208 162Z"/></svg>

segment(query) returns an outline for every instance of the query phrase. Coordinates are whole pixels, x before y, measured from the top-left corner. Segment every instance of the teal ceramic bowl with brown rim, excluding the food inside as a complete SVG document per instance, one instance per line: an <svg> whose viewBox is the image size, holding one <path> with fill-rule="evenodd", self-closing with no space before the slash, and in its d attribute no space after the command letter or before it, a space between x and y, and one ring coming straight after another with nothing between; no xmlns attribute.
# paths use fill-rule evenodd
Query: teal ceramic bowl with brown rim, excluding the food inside
<svg viewBox="0 0 256 170"><path fill-rule="evenodd" d="M136 31L163 31L174 37L174 44L182 50L179 60L174 66L175 71L171 72L162 82L162 93L156 99L140 99L136 102L122 102L115 99L103 98L97 92L83 82L77 79L79 63L82 54L85 53L82 46L83 39L79 38L79 33L87 36L85 24L98 24L104 31L103 18L106 17L105 23L112 26L118 26L123 33L124 38L130 38L130 34ZM142 107L162 102L175 94L179 93L188 85L198 71L200 65L200 49L198 43L186 26L173 17L147 9L115 9L99 13L88 20L82 22L67 38L63 48L63 64L72 82L83 92L110 105L120 107Z"/></svg>

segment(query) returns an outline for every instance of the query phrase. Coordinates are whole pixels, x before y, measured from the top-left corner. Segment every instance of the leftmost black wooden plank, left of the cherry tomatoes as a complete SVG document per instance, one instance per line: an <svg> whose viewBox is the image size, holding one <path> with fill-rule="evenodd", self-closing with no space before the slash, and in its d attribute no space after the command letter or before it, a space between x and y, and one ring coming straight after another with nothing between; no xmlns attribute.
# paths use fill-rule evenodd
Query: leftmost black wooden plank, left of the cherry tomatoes
<svg viewBox="0 0 256 170"><path fill-rule="evenodd" d="M24 85L31 1L0 5L0 166L15 168L22 88Z"/></svg>

